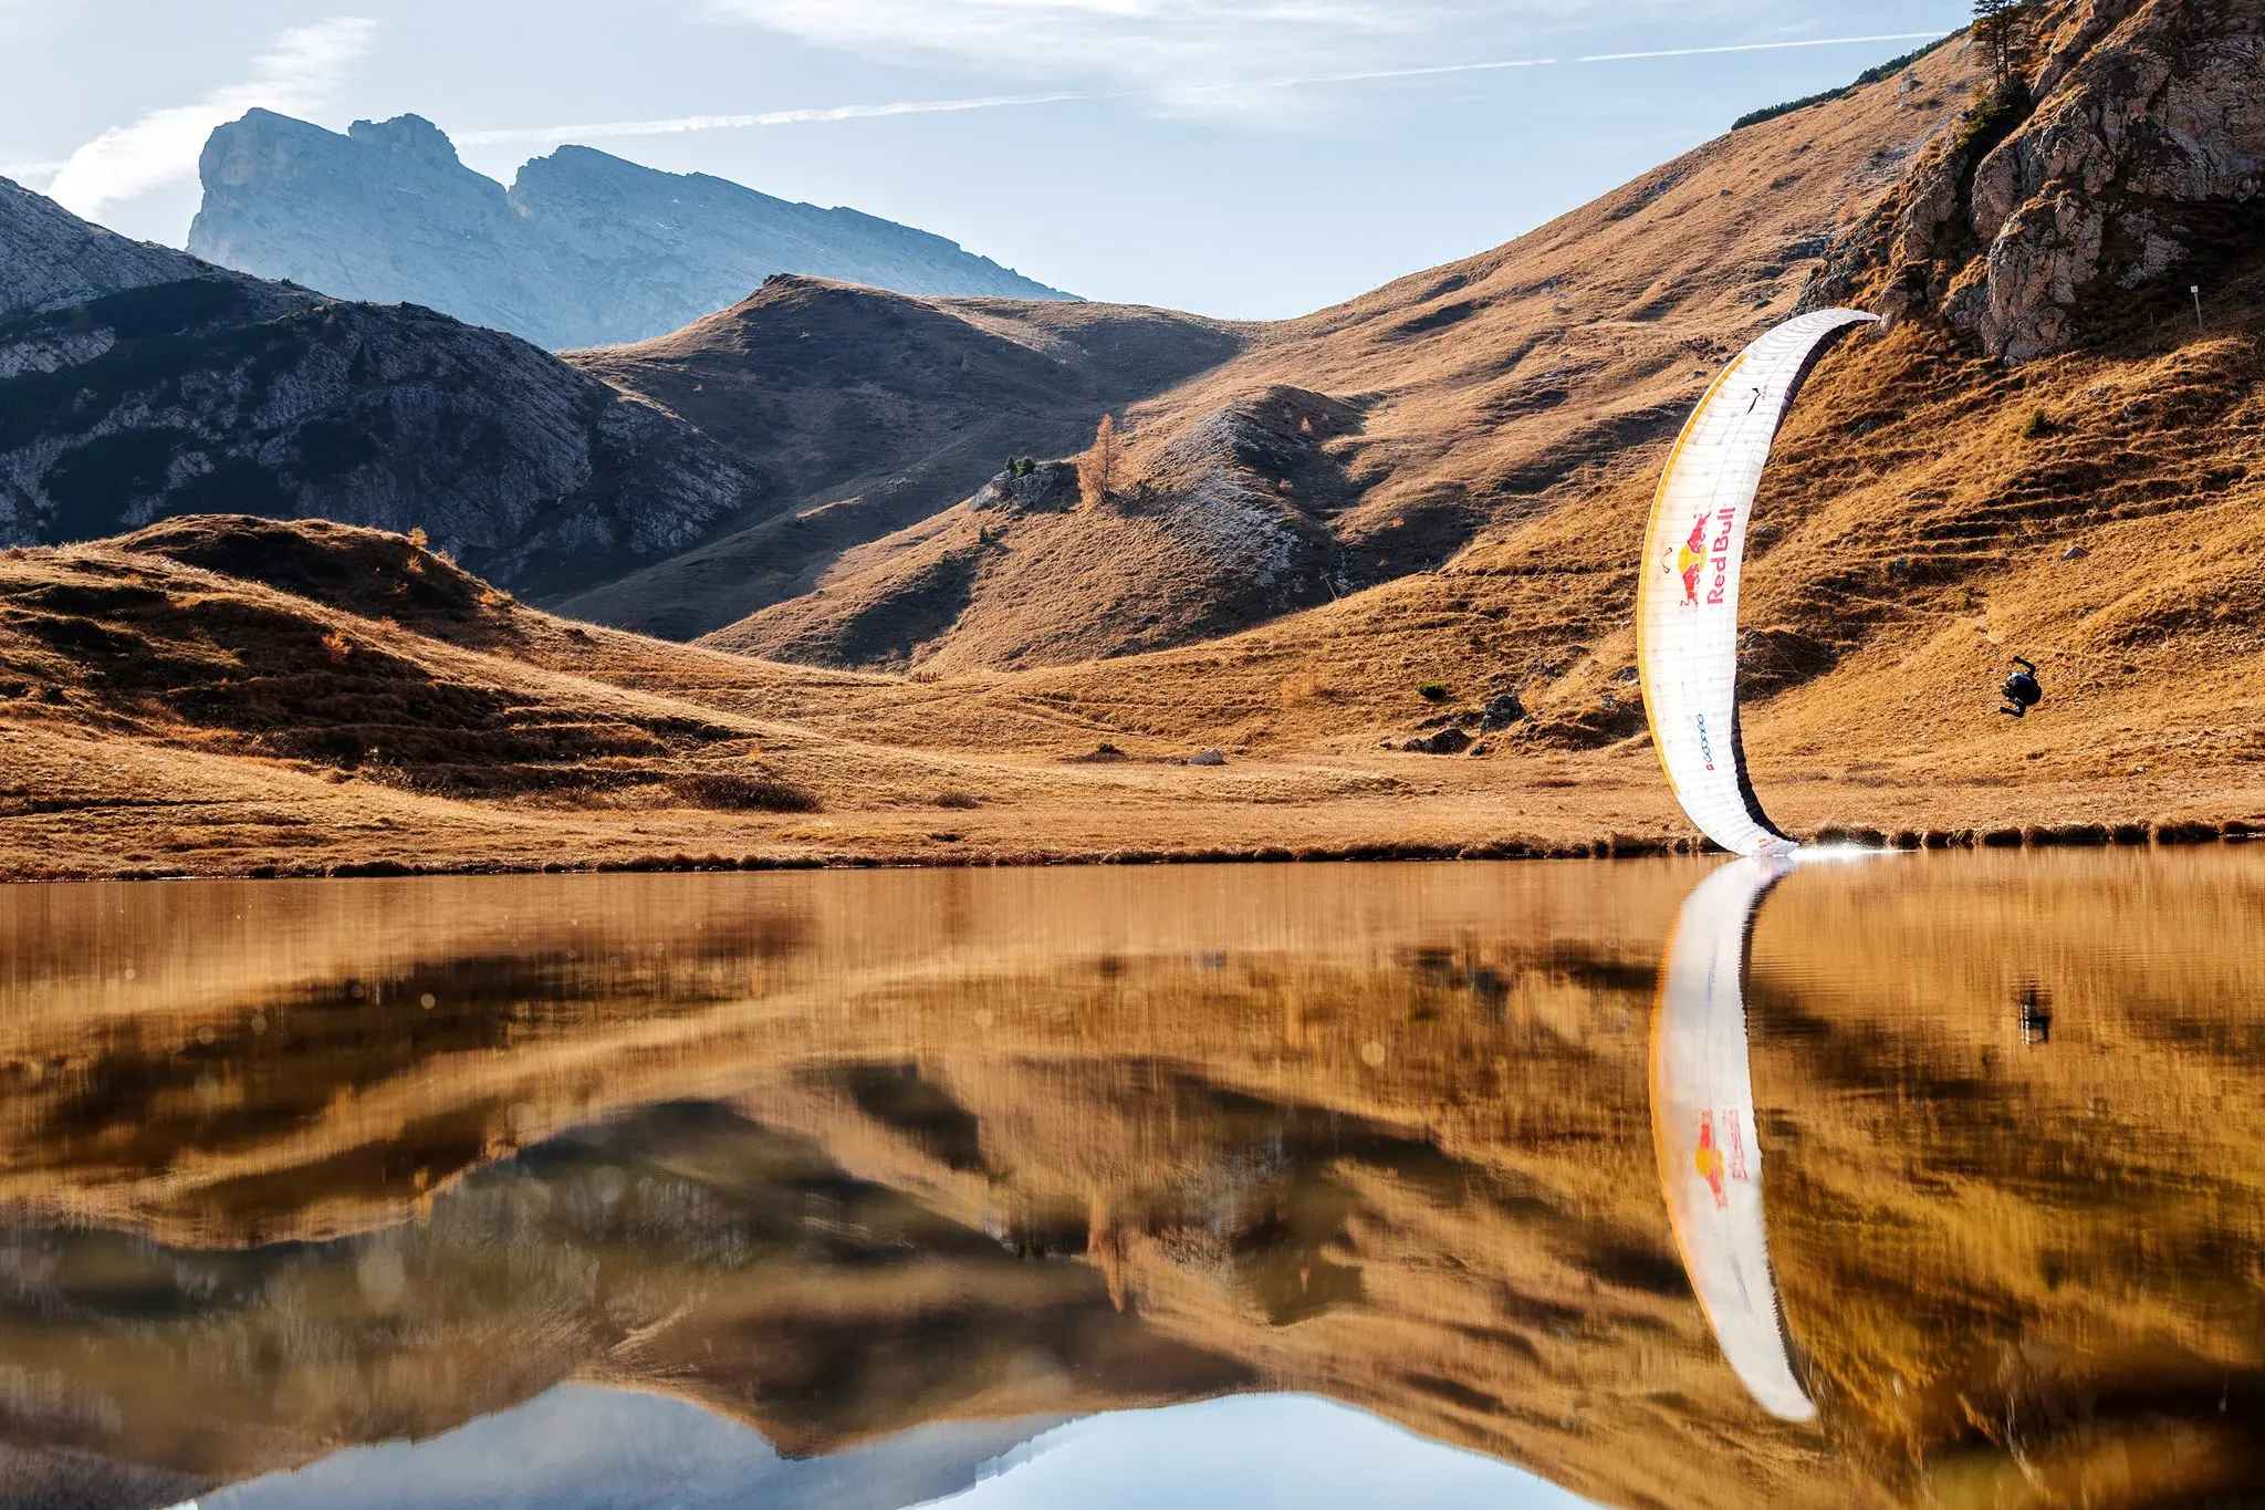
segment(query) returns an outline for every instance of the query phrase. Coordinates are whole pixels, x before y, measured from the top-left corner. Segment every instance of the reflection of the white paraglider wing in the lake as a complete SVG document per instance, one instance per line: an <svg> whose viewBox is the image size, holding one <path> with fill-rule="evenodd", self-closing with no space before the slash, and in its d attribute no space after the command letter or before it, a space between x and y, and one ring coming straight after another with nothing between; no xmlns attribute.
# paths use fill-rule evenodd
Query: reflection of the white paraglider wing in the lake
<svg viewBox="0 0 2265 1510"><path fill-rule="evenodd" d="M1735 860L1683 901L1651 1023L1651 1141L1683 1268L1724 1358L1771 1415L1817 1415L1794 1376L1762 1229L1746 1066L1746 937L1785 860Z"/></svg>

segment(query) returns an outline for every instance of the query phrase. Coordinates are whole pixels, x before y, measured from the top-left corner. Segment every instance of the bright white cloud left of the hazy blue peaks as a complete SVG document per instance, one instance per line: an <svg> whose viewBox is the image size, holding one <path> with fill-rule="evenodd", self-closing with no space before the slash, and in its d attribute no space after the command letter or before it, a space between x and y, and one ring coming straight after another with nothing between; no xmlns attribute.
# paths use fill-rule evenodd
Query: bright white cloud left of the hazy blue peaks
<svg viewBox="0 0 2265 1510"><path fill-rule="evenodd" d="M104 206L188 179L197 172L204 138L245 111L319 109L347 70L369 52L374 34L376 23L353 16L283 32L258 57L249 81L111 127L70 154L48 195L77 215L95 215Z"/></svg>

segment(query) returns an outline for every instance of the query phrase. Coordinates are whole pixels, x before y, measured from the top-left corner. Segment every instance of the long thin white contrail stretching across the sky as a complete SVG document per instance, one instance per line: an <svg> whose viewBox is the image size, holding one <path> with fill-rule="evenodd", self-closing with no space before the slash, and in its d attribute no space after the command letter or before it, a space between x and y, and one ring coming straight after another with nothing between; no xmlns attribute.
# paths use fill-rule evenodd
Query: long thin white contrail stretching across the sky
<svg viewBox="0 0 2265 1510"><path fill-rule="evenodd" d="M510 145L555 145L621 136L677 136L682 131L736 131L747 127L800 127L829 120L879 120L886 115L938 115L958 111L1028 109L1040 104L1089 104L1096 100L1178 100L1194 102L1205 95L1248 95L1253 91L1327 88L1332 84L1382 84L1391 79L1429 79L1456 72L1504 72L1513 68L1565 68L1576 63L1624 63L1633 59L1708 57L1717 52L1780 52L1787 48L1853 48L1860 43L1934 41L1941 32L1878 32L1871 36L1810 36L1801 41L1733 43L1721 48L1660 48L1651 52L1592 52L1574 59L1515 57L1481 59L1470 63L1425 63L1413 68L1364 68L1357 72L1323 72L1275 79L1234 79L1225 84L1169 84L1160 88L1121 88L1105 93L1053 93L1053 95L978 95L974 100L897 100L892 104L836 104L804 111L763 111L759 115L670 115L664 120L605 120L573 127L505 127L496 131L464 131L455 140L464 147L510 147Z"/></svg>

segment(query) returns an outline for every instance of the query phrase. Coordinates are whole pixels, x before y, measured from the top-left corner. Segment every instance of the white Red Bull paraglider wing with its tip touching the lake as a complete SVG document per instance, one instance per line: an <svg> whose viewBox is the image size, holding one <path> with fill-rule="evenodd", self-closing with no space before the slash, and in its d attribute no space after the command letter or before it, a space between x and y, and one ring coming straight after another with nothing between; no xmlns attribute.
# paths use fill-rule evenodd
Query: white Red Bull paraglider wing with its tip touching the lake
<svg viewBox="0 0 2265 1510"><path fill-rule="evenodd" d="M1753 494L1810 367L1873 319L1819 310L1746 346L1683 426L1644 530L1635 663L1651 743L1676 801L1733 853L1794 849L1753 795L1737 731L1737 577Z"/></svg>

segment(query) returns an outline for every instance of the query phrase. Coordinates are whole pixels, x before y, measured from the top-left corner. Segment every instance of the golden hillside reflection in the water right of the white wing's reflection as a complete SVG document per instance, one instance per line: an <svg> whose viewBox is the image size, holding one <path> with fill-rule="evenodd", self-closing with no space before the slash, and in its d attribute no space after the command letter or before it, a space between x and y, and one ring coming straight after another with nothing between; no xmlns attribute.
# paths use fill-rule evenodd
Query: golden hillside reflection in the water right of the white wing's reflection
<svg viewBox="0 0 2265 1510"><path fill-rule="evenodd" d="M1762 917L1787 1324L1912 1499L2265 1496L2265 876L2208 874L1857 867Z"/></svg>

